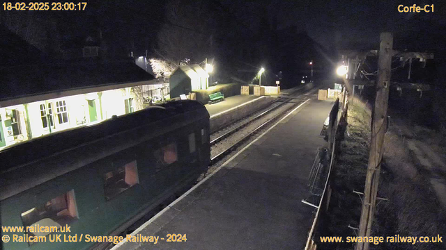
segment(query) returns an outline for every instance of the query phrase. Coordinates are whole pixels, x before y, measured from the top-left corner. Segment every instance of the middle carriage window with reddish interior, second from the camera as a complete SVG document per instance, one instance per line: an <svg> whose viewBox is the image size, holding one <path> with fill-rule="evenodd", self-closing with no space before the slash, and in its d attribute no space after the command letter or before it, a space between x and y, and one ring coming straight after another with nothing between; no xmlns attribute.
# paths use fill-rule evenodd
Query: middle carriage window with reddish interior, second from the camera
<svg viewBox="0 0 446 250"><path fill-rule="evenodd" d="M105 199L108 201L137 183L139 183L138 168L137 161L134 160L105 174Z"/></svg>

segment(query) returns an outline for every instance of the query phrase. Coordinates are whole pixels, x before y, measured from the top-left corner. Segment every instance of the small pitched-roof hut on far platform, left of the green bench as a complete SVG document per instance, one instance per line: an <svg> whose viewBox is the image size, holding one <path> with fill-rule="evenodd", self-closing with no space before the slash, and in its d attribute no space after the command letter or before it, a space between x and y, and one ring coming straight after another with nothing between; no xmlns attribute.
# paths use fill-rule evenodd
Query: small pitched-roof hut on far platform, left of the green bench
<svg viewBox="0 0 446 250"><path fill-rule="evenodd" d="M170 97L180 97L194 90L206 90L209 87L209 75L200 65L179 66L169 77Z"/></svg>

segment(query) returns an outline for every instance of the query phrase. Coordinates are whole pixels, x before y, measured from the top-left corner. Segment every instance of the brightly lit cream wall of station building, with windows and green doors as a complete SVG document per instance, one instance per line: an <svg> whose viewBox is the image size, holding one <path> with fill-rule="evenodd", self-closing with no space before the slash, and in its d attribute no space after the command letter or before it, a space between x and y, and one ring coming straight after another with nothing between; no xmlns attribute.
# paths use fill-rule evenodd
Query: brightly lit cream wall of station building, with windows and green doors
<svg viewBox="0 0 446 250"><path fill-rule="evenodd" d="M141 110L144 96L142 89L121 88L0 108L0 150L31 138ZM13 112L15 116L20 116L17 123L22 136L14 135L17 125L13 129Z"/></svg>

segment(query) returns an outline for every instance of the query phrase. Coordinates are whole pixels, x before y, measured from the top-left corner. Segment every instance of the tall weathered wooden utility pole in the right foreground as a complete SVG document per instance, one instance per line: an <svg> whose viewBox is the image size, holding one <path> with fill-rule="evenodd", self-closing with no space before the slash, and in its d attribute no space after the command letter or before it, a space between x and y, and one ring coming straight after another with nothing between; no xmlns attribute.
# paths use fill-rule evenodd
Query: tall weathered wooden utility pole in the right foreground
<svg viewBox="0 0 446 250"><path fill-rule="evenodd" d="M371 117L371 140L369 164L364 188L360 231L358 236L369 237L371 224L374 220L376 194L378 192L379 172L383 158L383 142L386 129L387 102L389 101L390 73L392 66L393 35L381 33L378 54L378 81L376 84L376 99ZM369 249L369 243L357 243L356 250Z"/></svg>

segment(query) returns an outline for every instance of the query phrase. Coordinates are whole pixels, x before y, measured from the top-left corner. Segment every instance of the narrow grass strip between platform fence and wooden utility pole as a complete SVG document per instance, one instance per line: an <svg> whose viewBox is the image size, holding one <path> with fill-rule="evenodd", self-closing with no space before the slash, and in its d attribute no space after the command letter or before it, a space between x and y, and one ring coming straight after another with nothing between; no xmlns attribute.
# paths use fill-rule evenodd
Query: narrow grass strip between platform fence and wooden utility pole
<svg viewBox="0 0 446 250"><path fill-rule="evenodd" d="M365 103L353 101L348 106L348 126L332 172L332 196L328 215L323 218L320 235L354 236L349 228L358 227L361 199L369 156L370 111ZM318 249L353 249L352 244L320 244Z"/></svg>

